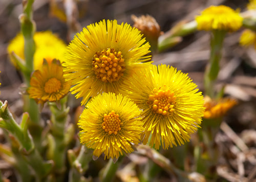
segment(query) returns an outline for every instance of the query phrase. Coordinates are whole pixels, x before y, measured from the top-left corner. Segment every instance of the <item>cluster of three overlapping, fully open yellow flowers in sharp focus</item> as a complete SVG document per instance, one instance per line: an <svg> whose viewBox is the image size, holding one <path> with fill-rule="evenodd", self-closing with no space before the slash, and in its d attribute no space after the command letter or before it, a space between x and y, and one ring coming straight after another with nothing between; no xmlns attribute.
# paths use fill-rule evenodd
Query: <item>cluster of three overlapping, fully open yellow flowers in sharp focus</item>
<svg viewBox="0 0 256 182"><path fill-rule="evenodd" d="M116 20L89 25L68 46L64 77L82 105L93 97L78 125L96 158L118 159L140 142L184 144L200 127L202 93L187 74L147 62L149 48L138 29Z"/></svg>

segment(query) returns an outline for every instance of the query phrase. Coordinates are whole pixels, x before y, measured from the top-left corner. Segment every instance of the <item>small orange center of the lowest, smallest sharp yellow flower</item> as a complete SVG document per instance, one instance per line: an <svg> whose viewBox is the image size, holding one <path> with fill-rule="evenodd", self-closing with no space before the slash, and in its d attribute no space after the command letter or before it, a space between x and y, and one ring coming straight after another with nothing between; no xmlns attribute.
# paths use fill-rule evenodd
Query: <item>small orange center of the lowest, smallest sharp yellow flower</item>
<svg viewBox="0 0 256 182"><path fill-rule="evenodd" d="M111 111L109 114L104 114L101 126L109 135L116 135L117 132L121 130L121 125L123 125L123 123L119 119L119 114L115 114L115 111Z"/></svg>

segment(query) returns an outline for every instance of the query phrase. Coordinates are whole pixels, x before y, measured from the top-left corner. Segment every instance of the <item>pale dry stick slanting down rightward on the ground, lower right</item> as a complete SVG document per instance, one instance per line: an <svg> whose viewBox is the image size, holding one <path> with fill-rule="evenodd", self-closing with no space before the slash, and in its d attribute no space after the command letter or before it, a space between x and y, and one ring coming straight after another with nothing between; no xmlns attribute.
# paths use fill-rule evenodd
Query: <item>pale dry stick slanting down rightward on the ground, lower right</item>
<svg viewBox="0 0 256 182"><path fill-rule="evenodd" d="M247 151L249 148L244 141L233 132L233 130L227 125L226 122L222 122L220 126L221 130L238 146L241 151Z"/></svg>

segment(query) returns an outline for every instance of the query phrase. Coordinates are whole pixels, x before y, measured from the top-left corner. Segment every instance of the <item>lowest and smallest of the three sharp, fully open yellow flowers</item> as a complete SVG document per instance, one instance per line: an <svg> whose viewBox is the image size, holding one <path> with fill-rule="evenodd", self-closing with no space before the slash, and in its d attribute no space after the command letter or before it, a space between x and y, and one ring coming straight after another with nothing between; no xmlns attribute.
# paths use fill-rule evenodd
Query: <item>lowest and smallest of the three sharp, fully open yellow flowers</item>
<svg viewBox="0 0 256 182"><path fill-rule="evenodd" d="M130 98L115 93L102 93L93 97L83 110L78 126L81 143L94 149L97 158L118 159L123 153L134 151L140 142L143 123L140 110Z"/></svg>

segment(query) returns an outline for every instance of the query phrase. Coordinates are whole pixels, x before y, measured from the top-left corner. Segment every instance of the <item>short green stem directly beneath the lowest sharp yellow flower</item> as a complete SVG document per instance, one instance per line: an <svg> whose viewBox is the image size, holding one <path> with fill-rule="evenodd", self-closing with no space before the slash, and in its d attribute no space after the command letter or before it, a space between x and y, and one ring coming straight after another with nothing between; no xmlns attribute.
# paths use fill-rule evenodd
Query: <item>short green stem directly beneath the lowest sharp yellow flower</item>
<svg viewBox="0 0 256 182"><path fill-rule="evenodd" d="M117 171L118 167L120 166L120 164L122 163L123 158L124 158L123 156L120 156L116 163L114 163L112 159L109 160L109 162L106 165L106 167L104 168L104 171L101 176L102 182L113 181L113 179L116 176L116 171Z"/></svg>

